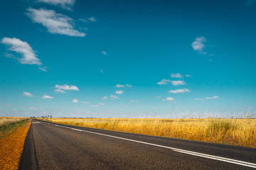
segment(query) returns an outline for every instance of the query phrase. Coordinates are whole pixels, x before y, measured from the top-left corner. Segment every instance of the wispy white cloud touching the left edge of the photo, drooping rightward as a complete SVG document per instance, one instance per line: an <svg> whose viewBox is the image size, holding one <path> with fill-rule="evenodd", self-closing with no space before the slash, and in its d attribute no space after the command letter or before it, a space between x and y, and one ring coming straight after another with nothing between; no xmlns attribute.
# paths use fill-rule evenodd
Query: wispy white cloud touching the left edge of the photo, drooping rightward
<svg viewBox="0 0 256 170"><path fill-rule="evenodd" d="M21 54L21 58L17 58L18 62L21 62L21 64L42 64L41 61L36 57L35 52L28 42L22 41L18 38L3 38L1 43L8 45L8 50Z"/></svg>

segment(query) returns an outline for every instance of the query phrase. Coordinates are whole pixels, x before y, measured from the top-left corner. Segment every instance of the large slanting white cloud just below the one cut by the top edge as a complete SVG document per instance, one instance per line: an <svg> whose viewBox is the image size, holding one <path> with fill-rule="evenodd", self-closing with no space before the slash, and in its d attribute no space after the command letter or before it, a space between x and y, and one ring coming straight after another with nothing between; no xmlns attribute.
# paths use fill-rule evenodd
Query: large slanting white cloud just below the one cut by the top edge
<svg viewBox="0 0 256 170"><path fill-rule="evenodd" d="M73 18L61 13L55 13L53 10L28 8L28 16L35 23L41 23L48 32L60 35L69 35L74 37L85 37L85 33L80 33L73 28Z"/></svg>

